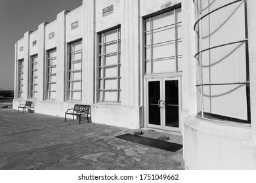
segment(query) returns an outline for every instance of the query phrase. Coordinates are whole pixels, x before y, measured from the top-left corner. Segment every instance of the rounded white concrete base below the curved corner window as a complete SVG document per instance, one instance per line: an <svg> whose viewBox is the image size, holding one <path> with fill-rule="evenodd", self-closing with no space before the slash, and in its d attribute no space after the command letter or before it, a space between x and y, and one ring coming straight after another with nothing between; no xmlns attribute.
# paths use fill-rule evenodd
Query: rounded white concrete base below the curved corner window
<svg viewBox="0 0 256 183"><path fill-rule="evenodd" d="M185 169L256 169L256 144L251 126L184 120Z"/></svg>

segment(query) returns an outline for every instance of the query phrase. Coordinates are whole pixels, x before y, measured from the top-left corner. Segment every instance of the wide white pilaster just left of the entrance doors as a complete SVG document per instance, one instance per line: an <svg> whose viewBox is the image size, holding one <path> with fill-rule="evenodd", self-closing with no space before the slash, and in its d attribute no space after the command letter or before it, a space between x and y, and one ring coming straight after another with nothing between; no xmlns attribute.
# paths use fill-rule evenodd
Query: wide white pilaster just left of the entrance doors
<svg viewBox="0 0 256 183"><path fill-rule="evenodd" d="M124 0L121 24L121 103L139 106L139 0Z"/></svg>

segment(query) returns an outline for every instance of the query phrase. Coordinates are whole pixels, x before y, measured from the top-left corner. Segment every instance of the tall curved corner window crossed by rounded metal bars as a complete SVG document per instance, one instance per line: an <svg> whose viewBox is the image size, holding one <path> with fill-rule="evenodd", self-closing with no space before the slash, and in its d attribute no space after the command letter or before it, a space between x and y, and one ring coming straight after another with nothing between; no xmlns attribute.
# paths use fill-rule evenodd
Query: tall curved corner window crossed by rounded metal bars
<svg viewBox="0 0 256 183"><path fill-rule="evenodd" d="M245 1L194 3L198 116L250 123Z"/></svg>

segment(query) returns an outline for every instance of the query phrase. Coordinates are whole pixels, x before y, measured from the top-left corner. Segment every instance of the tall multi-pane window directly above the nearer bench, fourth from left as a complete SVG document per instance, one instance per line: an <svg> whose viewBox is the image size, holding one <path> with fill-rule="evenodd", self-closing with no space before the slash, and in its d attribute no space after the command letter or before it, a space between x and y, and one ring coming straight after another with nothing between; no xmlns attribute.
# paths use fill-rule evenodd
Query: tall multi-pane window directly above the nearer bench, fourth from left
<svg viewBox="0 0 256 183"><path fill-rule="evenodd" d="M68 63L68 99L81 100L82 93L82 44L81 41L70 44Z"/></svg>

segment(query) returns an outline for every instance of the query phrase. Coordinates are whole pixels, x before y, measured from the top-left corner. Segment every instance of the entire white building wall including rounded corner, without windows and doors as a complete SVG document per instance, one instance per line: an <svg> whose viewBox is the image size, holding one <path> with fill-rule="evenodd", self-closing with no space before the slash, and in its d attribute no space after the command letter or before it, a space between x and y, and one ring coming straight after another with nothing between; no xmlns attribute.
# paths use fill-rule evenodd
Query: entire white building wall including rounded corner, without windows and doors
<svg viewBox="0 0 256 183"><path fill-rule="evenodd" d="M181 81L181 133L184 144L186 169L256 169L255 156L255 13L253 0L247 0L249 33L249 74L251 92L251 125L202 120L196 117L196 61L194 59L195 13L193 1L183 0L87 0L81 7L63 10L56 20L39 25L38 30L24 33L16 42L16 82L18 60L24 59L24 97L15 94L13 108L31 100L35 112L64 117L64 112L74 104L91 105L92 121L99 124L117 125L137 129L146 126L146 82L144 66L144 17L156 14L175 5L182 8L183 71L165 73L162 77L179 77ZM113 5L114 10L102 16L102 10ZM72 24L78 21L78 27ZM121 27L121 103L98 103L97 61L98 33L116 26ZM54 37L53 34L54 33ZM50 35L51 34L51 35ZM50 39L51 37L51 39ZM32 46L37 40L37 45ZM82 42L82 99L68 101L68 44ZM23 47L23 50L20 50ZM47 50L57 50L56 99L46 99ZM39 96L29 96L30 56L39 56ZM152 75L152 78L155 78ZM71 117L71 116L70 116Z"/></svg>

